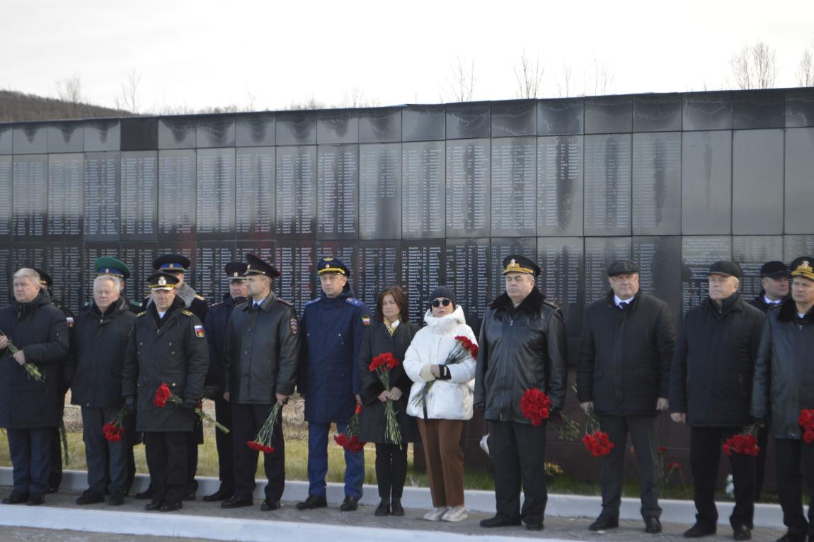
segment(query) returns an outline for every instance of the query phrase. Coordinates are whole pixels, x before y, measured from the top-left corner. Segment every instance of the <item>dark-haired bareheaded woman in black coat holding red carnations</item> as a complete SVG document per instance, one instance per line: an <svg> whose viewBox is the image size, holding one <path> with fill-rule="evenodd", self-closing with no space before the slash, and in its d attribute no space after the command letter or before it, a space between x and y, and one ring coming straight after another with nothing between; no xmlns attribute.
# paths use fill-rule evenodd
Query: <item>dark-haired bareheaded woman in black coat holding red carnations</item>
<svg viewBox="0 0 814 542"><path fill-rule="evenodd" d="M403 516L401 492L407 478L407 443L414 442L417 434L415 418L407 416L407 399L413 381L399 364L390 372L390 391L384 389L379 377L370 371L370 362L377 355L390 352L403 362L405 352L418 326L411 324L407 299L400 286L391 286L379 294L374 324L365 330L359 354L360 395L363 403L359 440L376 443L376 480L382 499L375 515ZM388 443L384 438L386 419L384 405L396 404L396 420L401 431L401 444Z"/></svg>

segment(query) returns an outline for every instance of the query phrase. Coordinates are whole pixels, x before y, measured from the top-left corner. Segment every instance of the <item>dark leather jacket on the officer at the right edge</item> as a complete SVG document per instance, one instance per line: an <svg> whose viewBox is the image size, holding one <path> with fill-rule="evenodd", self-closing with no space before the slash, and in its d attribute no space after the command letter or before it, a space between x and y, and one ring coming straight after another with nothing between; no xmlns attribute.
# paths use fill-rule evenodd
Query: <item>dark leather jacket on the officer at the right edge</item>
<svg viewBox="0 0 814 542"><path fill-rule="evenodd" d="M775 438L800 438L800 410L814 408L812 352L814 311L800 319L793 299L768 311L755 363L751 413L764 417L771 412Z"/></svg>

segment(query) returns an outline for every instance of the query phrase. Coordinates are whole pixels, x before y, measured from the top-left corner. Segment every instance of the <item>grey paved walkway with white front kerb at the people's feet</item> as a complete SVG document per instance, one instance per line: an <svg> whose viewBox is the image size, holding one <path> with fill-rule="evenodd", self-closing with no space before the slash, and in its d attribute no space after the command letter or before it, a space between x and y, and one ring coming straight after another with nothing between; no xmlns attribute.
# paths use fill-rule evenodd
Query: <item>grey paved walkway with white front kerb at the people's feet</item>
<svg viewBox="0 0 814 542"><path fill-rule="evenodd" d="M0 487L0 495L6 495L10 488ZM488 513L471 513L470 518L460 523L427 522L422 519L426 510L408 509L404 518L376 518L374 509L361 506L356 512L340 512L335 505L327 509L300 512L294 503L284 502L281 509L274 512L260 512L260 500L252 508L224 510L217 503L204 503L202 500L187 501L184 509L174 513L147 513L143 510L144 501L128 498L125 505L78 506L74 500L79 491L59 491L46 496L46 505L31 507L24 505L0 505L0 525L10 523L37 523L36 527L55 527L55 530L25 527L0 527L0 542L6 540L64 540L68 542L153 542L168 540L170 536L189 535L193 538L173 538L183 542L189 540L317 540L330 538L338 540L517 540L536 538L543 540L607 540L625 542L654 542L663 540L685 540L681 532L689 525L665 523L660 535L647 535L643 524L637 521L622 522L619 529L606 533L588 531L588 518L546 518L545 531L530 532L524 527L484 529L478 522L487 518ZM185 521L186 520L186 521ZM192 527L185 527L185 525ZM85 525L85 527L81 527ZM128 525L145 525L155 530L155 535L99 534L61 530L60 527L127 530ZM132 531L131 531L132 532ZM149 532L149 531L148 531ZM753 532L753 540L759 542L777 540L783 531L758 528ZM195 538L197 536L198 538ZM212 539L208 539L212 536ZM470 538L471 537L471 538ZM719 527L719 534L704 540L732 540L732 531Z"/></svg>

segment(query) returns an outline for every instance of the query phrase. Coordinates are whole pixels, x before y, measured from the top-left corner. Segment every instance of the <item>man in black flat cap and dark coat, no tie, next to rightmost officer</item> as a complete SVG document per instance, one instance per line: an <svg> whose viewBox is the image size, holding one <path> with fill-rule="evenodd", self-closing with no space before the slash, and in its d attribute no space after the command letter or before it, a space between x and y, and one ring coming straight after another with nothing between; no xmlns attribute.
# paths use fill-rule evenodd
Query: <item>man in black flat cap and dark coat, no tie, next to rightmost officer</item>
<svg viewBox="0 0 814 542"><path fill-rule="evenodd" d="M716 533L721 444L742 433L750 421L752 375L765 317L738 293L740 279L736 263L712 264L709 297L685 315L673 356L670 417L690 426L689 465L698 510L685 538ZM729 522L735 540L749 540L755 514L755 457L736 452L729 462L735 483Z"/></svg>

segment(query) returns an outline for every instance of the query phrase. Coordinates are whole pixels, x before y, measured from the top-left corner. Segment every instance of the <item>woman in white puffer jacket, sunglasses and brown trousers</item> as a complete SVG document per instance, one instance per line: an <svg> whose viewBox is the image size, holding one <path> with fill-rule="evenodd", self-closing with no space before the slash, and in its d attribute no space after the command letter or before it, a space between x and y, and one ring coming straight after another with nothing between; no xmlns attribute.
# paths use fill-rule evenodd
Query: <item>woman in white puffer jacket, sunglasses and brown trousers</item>
<svg viewBox="0 0 814 542"><path fill-rule="evenodd" d="M468 356L458 364L444 362L459 344L455 337L473 343L476 339L466 325L463 309L455 305L452 289L440 286L430 299L430 310L424 315L427 326L418 330L405 354L405 372L414 382L407 413L418 418L435 507L424 519L459 522L468 515L463 500L461 434L464 421L472 418L475 359ZM420 402L416 396L429 381L435 384Z"/></svg>

